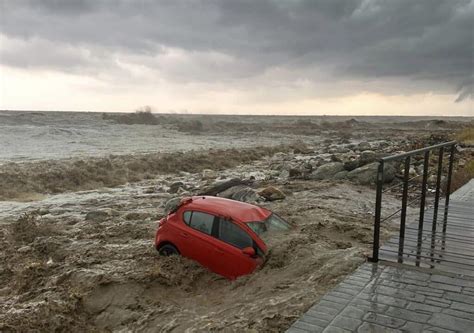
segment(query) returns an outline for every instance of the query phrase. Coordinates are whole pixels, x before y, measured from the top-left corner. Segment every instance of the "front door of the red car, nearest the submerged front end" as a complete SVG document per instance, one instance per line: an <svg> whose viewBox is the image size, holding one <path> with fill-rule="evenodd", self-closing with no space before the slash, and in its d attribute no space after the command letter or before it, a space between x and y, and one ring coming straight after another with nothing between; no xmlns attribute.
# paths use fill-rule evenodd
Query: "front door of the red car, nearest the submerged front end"
<svg viewBox="0 0 474 333"><path fill-rule="evenodd" d="M261 258L251 258L244 254L242 249L254 247L250 235L240 226L229 219L218 219L218 241L215 243L213 266L216 272L229 278L252 273L261 263Z"/></svg>

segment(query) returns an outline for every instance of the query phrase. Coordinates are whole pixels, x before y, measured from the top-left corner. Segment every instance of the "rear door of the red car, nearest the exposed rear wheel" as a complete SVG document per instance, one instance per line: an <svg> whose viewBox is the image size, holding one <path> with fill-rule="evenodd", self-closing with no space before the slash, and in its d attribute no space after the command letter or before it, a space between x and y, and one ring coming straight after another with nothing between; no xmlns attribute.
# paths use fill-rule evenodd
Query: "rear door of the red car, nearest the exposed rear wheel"
<svg viewBox="0 0 474 333"><path fill-rule="evenodd" d="M189 213L188 213L189 212ZM214 237L216 216L196 210L184 212L183 221L186 227L180 232L182 243L185 244L182 255L196 260L201 265L213 269Z"/></svg>

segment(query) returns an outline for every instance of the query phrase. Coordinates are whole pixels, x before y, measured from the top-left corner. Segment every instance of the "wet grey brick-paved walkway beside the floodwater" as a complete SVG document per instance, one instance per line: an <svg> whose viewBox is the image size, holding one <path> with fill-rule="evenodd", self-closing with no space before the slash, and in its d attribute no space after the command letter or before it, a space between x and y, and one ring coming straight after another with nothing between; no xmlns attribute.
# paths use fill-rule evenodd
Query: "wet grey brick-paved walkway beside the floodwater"
<svg viewBox="0 0 474 333"><path fill-rule="evenodd" d="M365 263L312 306L287 332L473 333L474 268L468 264L474 258L474 233L470 234L474 226L474 180L454 193L451 203L462 209L452 214L450 204L447 230L448 234L453 230L454 233L449 237L455 238L456 233L467 235L463 238L466 244L456 244L451 239L448 247L445 243L444 250L449 251L442 253L444 257L431 261L428 256L425 265L419 267L413 265L413 256L404 257L403 263L396 256L392 258L394 262ZM461 228L468 228L464 235L451 227L459 218L465 224ZM431 225L427 230L431 230ZM446 263L446 256L453 255L462 256L461 264Z"/></svg>

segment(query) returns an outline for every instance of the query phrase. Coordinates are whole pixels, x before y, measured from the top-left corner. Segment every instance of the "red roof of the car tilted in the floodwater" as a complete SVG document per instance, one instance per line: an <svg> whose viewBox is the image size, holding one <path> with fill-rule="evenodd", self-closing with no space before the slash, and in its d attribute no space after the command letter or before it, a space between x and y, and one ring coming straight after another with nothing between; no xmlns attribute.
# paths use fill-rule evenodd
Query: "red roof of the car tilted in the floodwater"
<svg viewBox="0 0 474 333"><path fill-rule="evenodd" d="M271 214L271 211L263 207L213 196L194 196L192 201L185 203L183 207L185 209L202 209L244 223L262 221Z"/></svg>

